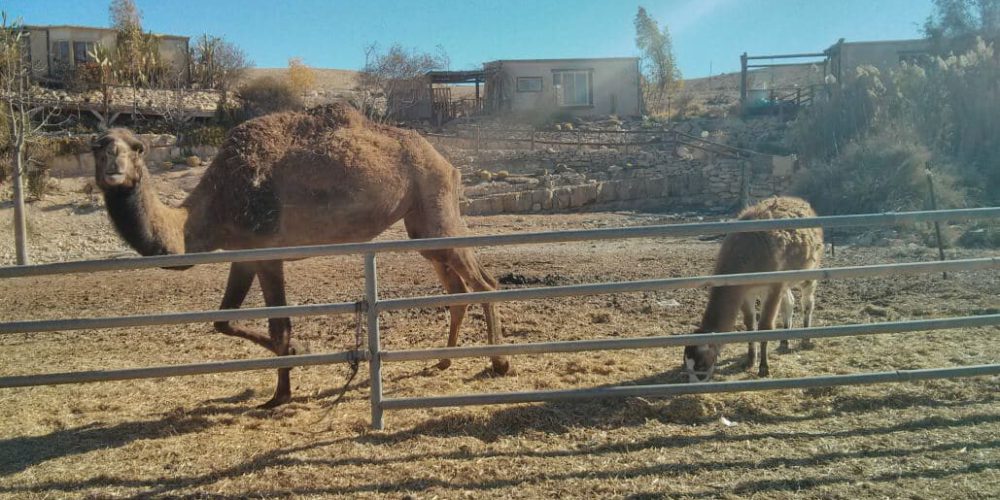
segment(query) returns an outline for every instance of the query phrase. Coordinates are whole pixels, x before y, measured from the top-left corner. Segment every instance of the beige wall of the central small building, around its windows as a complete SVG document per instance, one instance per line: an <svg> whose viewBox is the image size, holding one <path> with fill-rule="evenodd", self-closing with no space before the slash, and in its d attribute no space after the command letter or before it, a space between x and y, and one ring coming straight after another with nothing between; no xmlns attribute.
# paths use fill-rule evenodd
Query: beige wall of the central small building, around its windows
<svg viewBox="0 0 1000 500"><path fill-rule="evenodd" d="M593 103L587 106L560 106L553 84L558 70L590 72ZM574 115L636 116L642 113L639 97L639 73L635 59L567 59L545 61L503 61L504 84L510 88L509 110L514 113L560 112ZM539 92L518 92L517 79L540 77Z"/></svg>

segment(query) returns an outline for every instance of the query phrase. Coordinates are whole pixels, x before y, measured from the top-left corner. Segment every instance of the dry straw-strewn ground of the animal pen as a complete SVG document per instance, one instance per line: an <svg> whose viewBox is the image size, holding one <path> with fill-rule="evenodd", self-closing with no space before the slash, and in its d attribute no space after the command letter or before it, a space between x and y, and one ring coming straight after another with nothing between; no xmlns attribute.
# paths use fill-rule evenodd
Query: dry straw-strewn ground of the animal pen
<svg viewBox="0 0 1000 500"><path fill-rule="evenodd" d="M72 208L61 208L70 211ZM0 211L7 217L7 210ZM78 238L106 230L77 215ZM53 215L53 217L55 217ZM68 217L68 215L66 215ZM636 214L469 219L479 234L664 222ZM88 225L92 224L92 226ZM98 227L99 226L99 227ZM9 234L9 233L6 233ZM4 235L5 238L9 236ZM394 227L388 238L402 237ZM7 243L5 243L6 245ZM96 240L94 255L117 251ZM75 248L75 247L74 247ZM481 249L496 276L550 283L704 274L717 241L643 239ZM103 252L103 253L102 253ZM959 255L981 255L962 252ZM840 247L827 266L929 260L924 247ZM360 258L288 264L293 303L361 296ZM0 321L214 308L226 268L147 270L0 282ZM996 272L823 283L820 325L996 312ZM386 297L437 293L417 255L380 260ZM507 285L506 287L511 287ZM537 342L691 331L707 293L594 296L501 305L507 340ZM248 305L260 305L251 292ZM465 343L484 341L480 309ZM438 346L443 310L387 314L387 348ZM262 326L262 322L258 323ZM353 318L302 318L313 352L341 350ZM996 363L997 329L829 339L774 354L776 377ZM749 379L744 346L721 378ZM193 324L0 338L0 375L261 357L250 343ZM517 357L493 378L485 359L386 366L389 397L681 382L679 349ZM257 410L271 371L0 390L0 496L989 498L1000 494L998 379L663 400L390 412L368 429L367 375L329 403L347 368L293 371L295 400ZM735 425L726 425L725 417Z"/></svg>

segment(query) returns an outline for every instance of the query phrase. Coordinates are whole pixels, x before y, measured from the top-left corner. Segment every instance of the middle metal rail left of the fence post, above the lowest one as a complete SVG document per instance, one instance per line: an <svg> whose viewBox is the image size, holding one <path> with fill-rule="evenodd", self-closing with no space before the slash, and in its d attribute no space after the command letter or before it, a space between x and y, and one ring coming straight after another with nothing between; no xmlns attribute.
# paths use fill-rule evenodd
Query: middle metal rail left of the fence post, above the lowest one
<svg viewBox="0 0 1000 500"><path fill-rule="evenodd" d="M323 316L357 312L356 302L310 304L305 306L254 307L248 309L221 309L183 313L144 314L139 316L113 316L101 318L43 319L0 323L0 335L95 328L123 328L130 326L177 325L208 321L243 321L262 318L287 318L293 316Z"/></svg>

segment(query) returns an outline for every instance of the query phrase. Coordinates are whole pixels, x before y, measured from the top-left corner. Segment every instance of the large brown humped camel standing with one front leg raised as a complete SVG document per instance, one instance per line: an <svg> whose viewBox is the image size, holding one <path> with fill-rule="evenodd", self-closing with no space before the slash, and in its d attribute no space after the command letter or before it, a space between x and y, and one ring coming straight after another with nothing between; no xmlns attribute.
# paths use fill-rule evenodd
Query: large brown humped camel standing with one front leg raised
<svg viewBox="0 0 1000 500"><path fill-rule="evenodd" d="M403 220L410 238L468 233L459 214L461 177L416 132L380 125L347 105L263 116L227 135L199 184L179 207L160 201L143 161L143 143L114 128L93 144L97 186L118 234L142 255L368 241ZM448 293L497 289L467 248L420 252ZM282 261L236 262L222 309L239 308L254 278L267 306L284 306ZM500 318L484 303L487 338ZM448 346L458 342L466 306L451 306ZM218 321L215 330L278 356L296 354L288 318L268 319L264 335ZM441 360L439 368L449 366ZM492 358L506 374L505 357ZM278 370L272 408L291 400L289 369Z"/></svg>

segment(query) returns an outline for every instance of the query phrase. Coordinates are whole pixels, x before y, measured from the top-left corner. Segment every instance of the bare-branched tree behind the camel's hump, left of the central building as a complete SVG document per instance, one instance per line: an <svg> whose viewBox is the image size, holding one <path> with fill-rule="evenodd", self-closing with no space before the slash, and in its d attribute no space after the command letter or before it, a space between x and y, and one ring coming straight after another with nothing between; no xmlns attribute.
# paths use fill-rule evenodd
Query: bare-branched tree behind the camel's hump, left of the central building
<svg viewBox="0 0 1000 500"><path fill-rule="evenodd" d="M408 50L396 43L380 51L378 44L365 47L365 66L358 74L361 110L375 120L398 117L415 106L426 92L424 75L449 64L448 56Z"/></svg>

